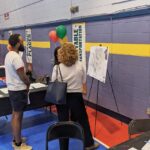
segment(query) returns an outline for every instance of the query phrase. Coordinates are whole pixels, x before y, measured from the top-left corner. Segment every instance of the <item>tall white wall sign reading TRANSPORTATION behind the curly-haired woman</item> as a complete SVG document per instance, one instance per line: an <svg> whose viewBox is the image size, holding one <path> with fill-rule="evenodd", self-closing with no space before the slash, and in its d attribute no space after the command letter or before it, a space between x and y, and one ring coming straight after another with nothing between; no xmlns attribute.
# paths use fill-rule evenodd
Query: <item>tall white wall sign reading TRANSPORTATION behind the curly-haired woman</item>
<svg viewBox="0 0 150 150"><path fill-rule="evenodd" d="M83 63L86 69L85 23L75 23L72 25L72 42L78 50L78 60Z"/></svg>

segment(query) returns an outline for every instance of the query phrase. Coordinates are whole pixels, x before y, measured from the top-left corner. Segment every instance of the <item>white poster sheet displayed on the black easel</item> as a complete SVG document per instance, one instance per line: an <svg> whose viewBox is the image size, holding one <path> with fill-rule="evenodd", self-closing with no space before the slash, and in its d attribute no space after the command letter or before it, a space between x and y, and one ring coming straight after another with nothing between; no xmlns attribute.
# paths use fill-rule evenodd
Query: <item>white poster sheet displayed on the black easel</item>
<svg viewBox="0 0 150 150"><path fill-rule="evenodd" d="M91 47L87 74L105 83L108 57L109 51L107 47Z"/></svg>

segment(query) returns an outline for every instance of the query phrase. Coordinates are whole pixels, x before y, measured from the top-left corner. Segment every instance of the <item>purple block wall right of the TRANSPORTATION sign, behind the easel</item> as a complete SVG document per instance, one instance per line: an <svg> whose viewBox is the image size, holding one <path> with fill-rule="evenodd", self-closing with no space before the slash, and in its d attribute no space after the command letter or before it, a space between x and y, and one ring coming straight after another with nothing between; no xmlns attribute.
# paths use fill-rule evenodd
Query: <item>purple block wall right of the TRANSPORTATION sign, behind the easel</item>
<svg viewBox="0 0 150 150"><path fill-rule="evenodd" d="M87 24L87 42L149 44L149 29L150 16L91 22ZM149 57L111 55L108 71L121 114L130 118L148 117L146 109L150 106L149 66ZM106 84L101 84L99 94L99 104L117 112L108 77ZM96 95L93 94L91 101L95 98Z"/></svg>

